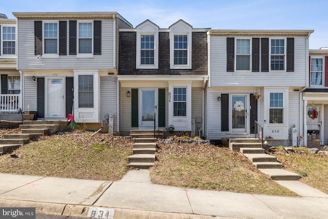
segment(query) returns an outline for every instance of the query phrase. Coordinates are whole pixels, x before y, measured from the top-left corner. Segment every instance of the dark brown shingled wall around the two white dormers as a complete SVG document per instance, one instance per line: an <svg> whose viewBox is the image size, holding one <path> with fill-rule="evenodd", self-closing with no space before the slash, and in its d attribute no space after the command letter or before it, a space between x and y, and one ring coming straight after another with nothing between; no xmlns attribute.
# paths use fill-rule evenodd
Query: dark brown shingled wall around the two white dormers
<svg viewBox="0 0 328 219"><path fill-rule="evenodd" d="M192 69L170 69L170 34L159 32L158 69L136 69L136 32L119 32L119 74L207 75L206 32L192 33Z"/></svg>

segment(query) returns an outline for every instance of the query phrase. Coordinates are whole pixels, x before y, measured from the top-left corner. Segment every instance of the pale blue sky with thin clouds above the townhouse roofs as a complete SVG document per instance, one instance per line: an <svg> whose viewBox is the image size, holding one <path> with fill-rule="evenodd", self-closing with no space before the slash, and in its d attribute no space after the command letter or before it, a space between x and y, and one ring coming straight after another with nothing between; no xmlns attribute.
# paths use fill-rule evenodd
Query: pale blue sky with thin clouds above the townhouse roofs
<svg viewBox="0 0 328 219"><path fill-rule="evenodd" d="M327 0L0 0L0 13L116 11L133 27L150 19L168 28L183 19L194 28L314 30L310 49L328 47Z"/></svg>

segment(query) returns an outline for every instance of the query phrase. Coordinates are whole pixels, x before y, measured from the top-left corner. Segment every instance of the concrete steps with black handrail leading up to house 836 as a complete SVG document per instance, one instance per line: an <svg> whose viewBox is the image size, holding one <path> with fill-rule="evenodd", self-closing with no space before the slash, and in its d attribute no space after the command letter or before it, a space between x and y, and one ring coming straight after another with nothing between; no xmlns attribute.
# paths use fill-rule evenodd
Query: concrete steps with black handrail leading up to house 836
<svg viewBox="0 0 328 219"><path fill-rule="evenodd" d="M268 145L265 145L267 148ZM270 176L272 180L293 181L299 180L300 175L282 170L282 164L277 161L277 157L265 153L265 149L258 139L255 138L231 138L229 148L233 151L240 151L247 156L261 172Z"/></svg>

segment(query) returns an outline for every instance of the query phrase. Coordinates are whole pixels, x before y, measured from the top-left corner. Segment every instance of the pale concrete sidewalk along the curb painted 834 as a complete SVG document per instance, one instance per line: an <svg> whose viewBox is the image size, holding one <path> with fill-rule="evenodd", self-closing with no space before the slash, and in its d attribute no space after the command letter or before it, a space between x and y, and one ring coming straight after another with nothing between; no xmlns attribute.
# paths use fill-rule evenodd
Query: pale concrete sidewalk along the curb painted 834
<svg viewBox="0 0 328 219"><path fill-rule="evenodd" d="M296 182L278 182L302 197L242 194L155 185L148 170L120 181L0 174L1 207L36 207L45 214L104 218L328 218L328 195Z"/></svg>

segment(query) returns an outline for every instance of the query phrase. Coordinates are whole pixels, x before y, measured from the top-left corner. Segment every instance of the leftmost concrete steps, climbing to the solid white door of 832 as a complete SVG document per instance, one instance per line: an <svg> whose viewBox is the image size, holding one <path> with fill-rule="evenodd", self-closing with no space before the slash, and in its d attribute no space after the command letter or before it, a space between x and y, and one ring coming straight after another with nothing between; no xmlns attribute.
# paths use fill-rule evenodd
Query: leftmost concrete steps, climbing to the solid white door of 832
<svg viewBox="0 0 328 219"><path fill-rule="evenodd" d="M53 134L64 131L68 122L64 121L24 121L19 125L22 134L4 134L0 139L0 155L29 143L33 138L43 134Z"/></svg>

